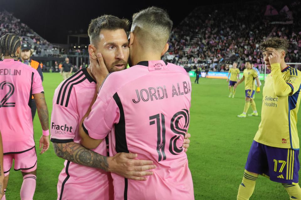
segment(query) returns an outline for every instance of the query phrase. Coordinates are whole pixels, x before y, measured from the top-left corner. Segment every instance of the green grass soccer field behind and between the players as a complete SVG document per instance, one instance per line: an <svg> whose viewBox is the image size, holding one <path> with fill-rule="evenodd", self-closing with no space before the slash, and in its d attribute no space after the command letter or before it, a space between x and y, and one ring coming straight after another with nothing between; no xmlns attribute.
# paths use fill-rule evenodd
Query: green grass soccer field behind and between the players
<svg viewBox="0 0 301 200"><path fill-rule="evenodd" d="M194 82L194 79L191 80ZM61 81L59 73L44 73L43 86L49 113L52 110L54 90ZM233 200L236 199L248 151L260 123L260 117L236 117L244 108L243 84L238 87L236 97L232 99L228 98L228 86L224 79L201 78L199 83L192 83L189 128L192 138L187 152L195 199ZM257 110L261 113L262 93L255 96ZM251 113L251 107L248 113ZM301 112L298 117L301 118ZM300 123L298 129L301 130ZM37 152L39 152L41 131L36 114L34 135ZM57 198L56 184L63 163L64 160L55 155L51 144L46 153L38 154L35 200ZM22 180L19 171L11 170L6 195L8 200L20 199ZM289 197L280 183L259 177L251 199L285 200Z"/></svg>

